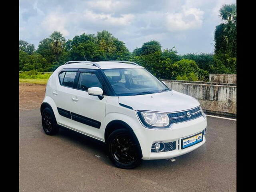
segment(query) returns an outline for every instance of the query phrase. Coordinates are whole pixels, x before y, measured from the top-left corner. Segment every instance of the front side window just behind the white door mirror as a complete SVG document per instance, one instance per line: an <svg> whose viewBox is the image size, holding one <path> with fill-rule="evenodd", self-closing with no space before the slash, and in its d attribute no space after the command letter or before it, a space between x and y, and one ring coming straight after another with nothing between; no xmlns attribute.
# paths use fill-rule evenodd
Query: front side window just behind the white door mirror
<svg viewBox="0 0 256 192"><path fill-rule="evenodd" d="M78 89L88 90L90 87L100 87L102 88L102 84L98 80L96 74L94 72L81 72L78 80Z"/></svg>

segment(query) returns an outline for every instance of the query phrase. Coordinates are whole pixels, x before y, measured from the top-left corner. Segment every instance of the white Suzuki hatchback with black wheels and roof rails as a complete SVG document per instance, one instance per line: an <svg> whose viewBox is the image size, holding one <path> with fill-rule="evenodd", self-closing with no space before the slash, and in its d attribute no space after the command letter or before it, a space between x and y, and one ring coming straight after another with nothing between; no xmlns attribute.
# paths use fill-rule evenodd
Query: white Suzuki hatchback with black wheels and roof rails
<svg viewBox="0 0 256 192"><path fill-rule="evenodd" d="M65 127L105 142L119 168L174 158L206 141L199 102L134 62L67 62L50 76L40 110L46 134Z"/></svg>

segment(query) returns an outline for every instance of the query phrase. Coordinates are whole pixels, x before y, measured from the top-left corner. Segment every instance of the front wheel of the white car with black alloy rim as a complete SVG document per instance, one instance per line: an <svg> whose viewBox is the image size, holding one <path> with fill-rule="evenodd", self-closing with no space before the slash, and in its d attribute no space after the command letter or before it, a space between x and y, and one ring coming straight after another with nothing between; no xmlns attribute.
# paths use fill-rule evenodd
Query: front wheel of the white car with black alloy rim
<svg viewBox="0 0 256 192"><path fill-rule="evenodd" d="M133 169L142 162L138 142L126 129L117 129L106 142L108 157L116 167Z"/></svg>

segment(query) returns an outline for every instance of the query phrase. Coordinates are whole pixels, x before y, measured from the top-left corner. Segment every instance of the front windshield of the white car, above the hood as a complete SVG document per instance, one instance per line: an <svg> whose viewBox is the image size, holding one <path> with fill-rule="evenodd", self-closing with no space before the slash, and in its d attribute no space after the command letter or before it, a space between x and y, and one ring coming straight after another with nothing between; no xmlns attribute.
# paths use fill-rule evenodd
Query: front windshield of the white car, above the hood
<svg viewBox="0 0 256 192"><path fill-rule="evenodd" d="M118 96L142 95L170 89L144 68L103 70Z"/></svg>

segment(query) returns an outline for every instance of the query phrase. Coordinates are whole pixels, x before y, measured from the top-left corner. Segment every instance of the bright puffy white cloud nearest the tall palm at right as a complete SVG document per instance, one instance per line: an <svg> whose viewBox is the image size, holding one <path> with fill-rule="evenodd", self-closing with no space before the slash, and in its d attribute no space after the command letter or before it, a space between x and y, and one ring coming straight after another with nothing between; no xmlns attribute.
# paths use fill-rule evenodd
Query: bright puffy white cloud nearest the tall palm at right
<svg viewBox="0 0 256 192"><path fill-rule="evenodd" d="M204 12L198 8L182 8L180 13L166 13L166 28L171 31L184 31L200 28Z"/></svg>

